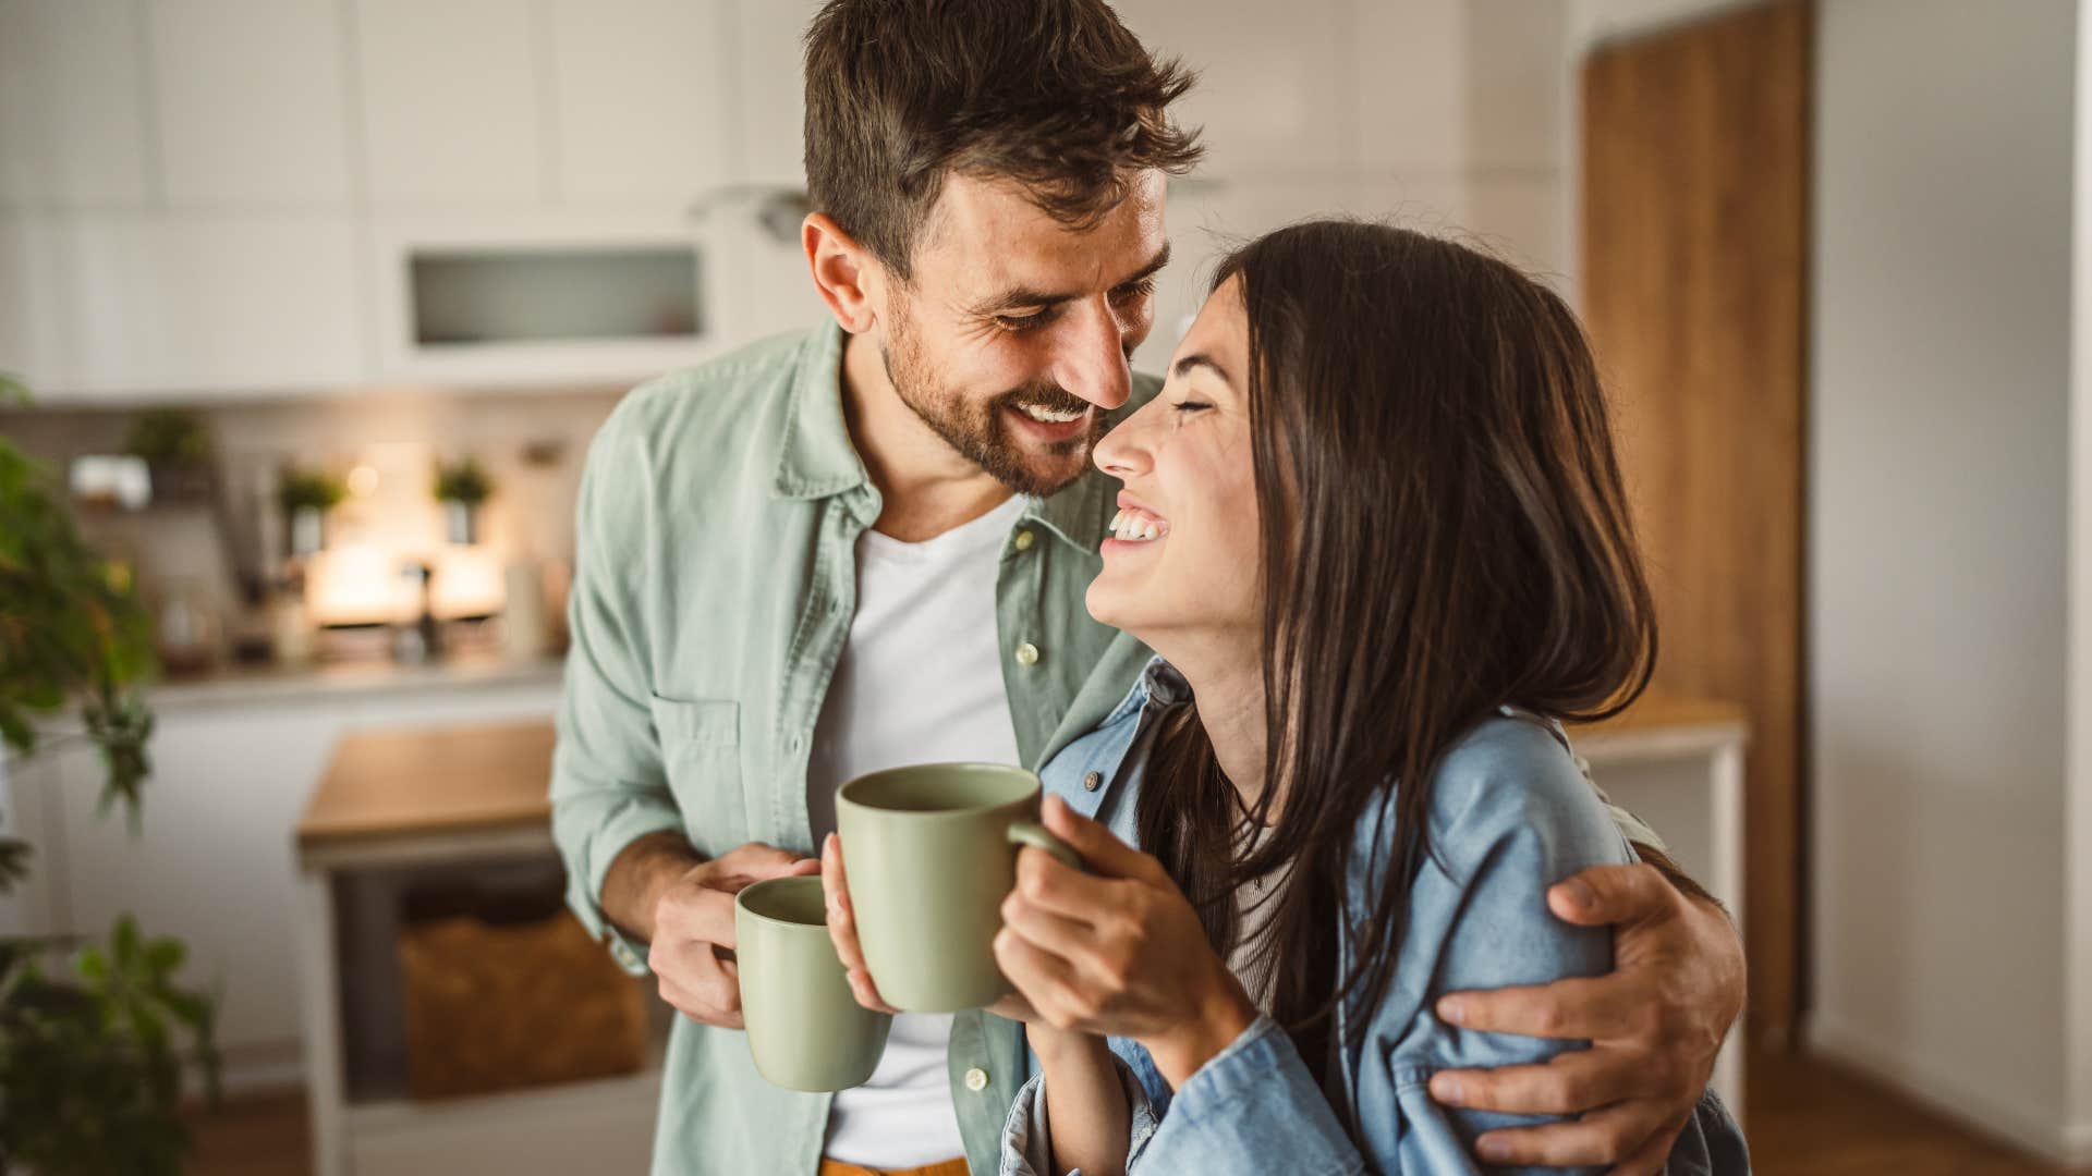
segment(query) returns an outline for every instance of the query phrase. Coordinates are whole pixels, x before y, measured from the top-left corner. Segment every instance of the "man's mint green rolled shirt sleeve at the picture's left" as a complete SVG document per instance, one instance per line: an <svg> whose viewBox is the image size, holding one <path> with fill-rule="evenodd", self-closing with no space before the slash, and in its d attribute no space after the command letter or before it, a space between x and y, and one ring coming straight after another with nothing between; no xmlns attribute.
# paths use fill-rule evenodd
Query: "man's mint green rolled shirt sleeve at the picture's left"
<svg viewBox="0 0 2092 1176"><path fill-rule="evenodd" d="M613 412L588 450L575 508L575 571L567 603L565 695L552 751L552 841L567 864L567 906L632 975L646 944L602 912L602 877L632 841L682 831L649 709L644 584L646 460Z"/></svg>

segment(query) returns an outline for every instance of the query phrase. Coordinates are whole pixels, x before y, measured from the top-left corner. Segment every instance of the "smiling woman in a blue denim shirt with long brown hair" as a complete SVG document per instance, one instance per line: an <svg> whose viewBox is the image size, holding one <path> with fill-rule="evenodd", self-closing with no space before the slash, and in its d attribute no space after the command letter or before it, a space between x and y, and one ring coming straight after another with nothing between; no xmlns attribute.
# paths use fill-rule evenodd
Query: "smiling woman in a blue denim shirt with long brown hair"
<svg viewBox="0 0 2092 1176"><path fill-rule="evenodd" d="M1544 891L1632 860L1556 720L1655 624L1575 318L1510 266L1314 222L1228 257L1123 481L1090 613L1159 653L1042 772L1090 870L1025 852L996 958L1040 1073L1004 1172L1475 1172L1454 990L1600 975ZM1138 845L1140 850L1134 850ZM1669 1172L1747 1172L1707 1094Z"/></svg>

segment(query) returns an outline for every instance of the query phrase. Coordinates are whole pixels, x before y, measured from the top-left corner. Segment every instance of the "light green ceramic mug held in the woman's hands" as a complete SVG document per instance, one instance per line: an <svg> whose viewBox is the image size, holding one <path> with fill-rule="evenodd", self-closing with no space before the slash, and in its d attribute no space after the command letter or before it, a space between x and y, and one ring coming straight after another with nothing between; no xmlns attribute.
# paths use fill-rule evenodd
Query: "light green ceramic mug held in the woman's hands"
<svg viewBox="0 0 2092 1176"><path fill-rule="evenodd" d="M956 1013L1010 992L994 937L1017 850L1082 868L1038 814L1040 778L1006 764L889 768L835 791L858 946L887 1004Z"/></svg>

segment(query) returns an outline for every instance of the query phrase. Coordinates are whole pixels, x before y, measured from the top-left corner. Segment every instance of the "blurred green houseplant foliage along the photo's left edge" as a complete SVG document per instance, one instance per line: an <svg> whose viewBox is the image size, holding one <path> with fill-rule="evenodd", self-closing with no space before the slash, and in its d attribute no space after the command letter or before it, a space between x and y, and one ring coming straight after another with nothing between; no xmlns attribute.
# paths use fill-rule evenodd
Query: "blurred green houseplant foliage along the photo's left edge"
<svg viewBox="0 0 2092 1176"><path fill-rule="evenodd" d="M27 391L0 377L0 402ZM107 770L100 810L138 829L153 716L138 691L153 626L130 580L82 538L42 467L0 437L0 778L40 745L38 716L77 707ZM0 889L29 873L0 835ZM178 983L186 948L126 914L107 942L0 935L0 1168L42 1176L180 1172L182 1073L218 1096L215 1002Z"/></svg>

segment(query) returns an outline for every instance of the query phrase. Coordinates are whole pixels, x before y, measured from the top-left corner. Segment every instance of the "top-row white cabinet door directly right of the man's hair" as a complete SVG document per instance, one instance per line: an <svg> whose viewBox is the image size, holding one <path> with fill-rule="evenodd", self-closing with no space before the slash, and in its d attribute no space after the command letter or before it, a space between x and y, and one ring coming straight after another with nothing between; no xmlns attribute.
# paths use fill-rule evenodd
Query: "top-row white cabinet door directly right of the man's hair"
<svg viewBox="0 0 2092 1176"><path fill-rule="evenodd" d="M1180 123L1205 126L1201 174L1349 167L1354 90L1331 61L1349 48L1351 4L1117 0L1113 6L1149 52L1182 56L1199 71L1199 84L1172 113Z"/></svg>

